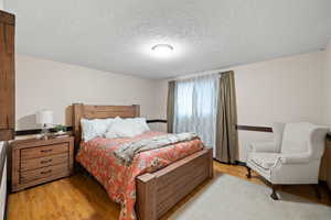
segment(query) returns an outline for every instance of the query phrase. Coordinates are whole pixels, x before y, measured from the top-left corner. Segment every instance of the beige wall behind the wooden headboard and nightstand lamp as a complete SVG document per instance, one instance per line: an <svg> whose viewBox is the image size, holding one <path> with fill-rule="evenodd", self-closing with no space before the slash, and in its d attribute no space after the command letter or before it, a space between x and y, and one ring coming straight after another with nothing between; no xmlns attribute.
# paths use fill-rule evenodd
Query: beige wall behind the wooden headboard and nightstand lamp
<svg viewBox="0 0 331 220"><path fill-rule="evenodd" d="M154 119L157 92L154 80L18 55L17 130L39 128L35 112L42 109L54 111L55 123L71 124L73 102L141 105L141 116Z"/></svg>

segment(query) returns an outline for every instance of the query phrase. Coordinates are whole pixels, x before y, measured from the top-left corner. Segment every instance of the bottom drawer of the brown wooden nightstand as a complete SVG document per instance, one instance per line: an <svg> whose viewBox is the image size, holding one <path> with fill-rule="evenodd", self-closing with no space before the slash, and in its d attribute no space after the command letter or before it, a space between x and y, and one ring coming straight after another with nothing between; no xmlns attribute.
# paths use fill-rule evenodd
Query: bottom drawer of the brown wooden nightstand
<svg viewBox="0 0 331 220"><path fill-rule="evenodd" d="M58 174L67 174L70 173L68 169L68 163L54 165L54 166L47 166L44 168L22 172L20 175L20 182L22 184L26 184L29 182L33 182L35 179L45 178L45 177L52 177L52 176L58 176Z"/></svg>

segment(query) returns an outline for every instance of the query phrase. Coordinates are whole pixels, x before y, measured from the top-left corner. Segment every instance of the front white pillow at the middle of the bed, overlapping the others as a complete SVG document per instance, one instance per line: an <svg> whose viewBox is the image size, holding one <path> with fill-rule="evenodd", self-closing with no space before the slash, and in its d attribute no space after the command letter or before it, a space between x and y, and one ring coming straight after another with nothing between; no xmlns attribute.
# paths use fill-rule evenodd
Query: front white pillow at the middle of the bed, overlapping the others
<svg viewBox="0 0 331 220"><path fill-rule="evenodd" d="M134 138L149 130L145 118L121 119L117 117L108 127L105 138Z"/></svg>

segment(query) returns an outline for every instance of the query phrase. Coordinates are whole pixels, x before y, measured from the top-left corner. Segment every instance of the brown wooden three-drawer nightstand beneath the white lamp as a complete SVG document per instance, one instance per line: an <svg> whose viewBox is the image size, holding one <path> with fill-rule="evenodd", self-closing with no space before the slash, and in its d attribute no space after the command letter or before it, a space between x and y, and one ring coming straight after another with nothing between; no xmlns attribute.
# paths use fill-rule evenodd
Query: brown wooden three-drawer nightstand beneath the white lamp
<svg viewBox="0 0 331 220"><path fill-rule="evenodd" d="M12 191L66 177L73 172L73 136L14 141L11 152Z"/></svg>

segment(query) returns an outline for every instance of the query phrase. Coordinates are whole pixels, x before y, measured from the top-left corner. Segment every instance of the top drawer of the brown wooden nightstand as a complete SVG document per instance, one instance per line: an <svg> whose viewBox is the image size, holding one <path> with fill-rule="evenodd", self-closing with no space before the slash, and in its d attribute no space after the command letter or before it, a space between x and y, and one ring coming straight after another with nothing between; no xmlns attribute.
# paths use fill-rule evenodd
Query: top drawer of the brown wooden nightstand
<svg viewBox="0 0 331 220"><path fill-rule="evenodd" d="M21 160L51 156L54 154L65 153L67 151L68 151L67 143L52 144L47 146L39 146L33 148L23 148L21 150Z"/></svg>

